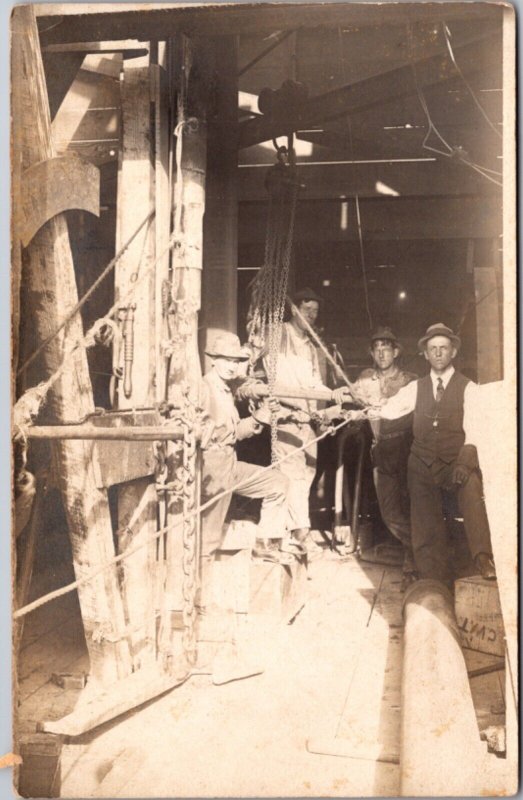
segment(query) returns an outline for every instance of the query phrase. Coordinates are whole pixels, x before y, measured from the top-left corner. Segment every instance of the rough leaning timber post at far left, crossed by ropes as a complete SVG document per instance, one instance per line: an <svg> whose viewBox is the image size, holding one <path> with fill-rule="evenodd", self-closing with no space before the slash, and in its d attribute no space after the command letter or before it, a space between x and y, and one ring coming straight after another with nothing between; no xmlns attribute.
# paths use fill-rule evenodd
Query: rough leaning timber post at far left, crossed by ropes
<svg viewBox="0 0 523 800"><path fill-rule="evenodd" d="M20 6L12 14L13 51L22 54L23 69L14 75L13 92L19 92L22 115L21 168L52 158L47 90L38 31L32 6ZM22 191L23 176L22 176ZM15 206L16 207L16 206ZM48 336L78 300L67 224L63 215L51 219L36 234L23 253L27 282L26 308L32 314L37 341ZM65 354L83 335L77 315L41 355L43 374L50 375ZM81 419L94 410L85 349L79 347L68 362L47 403L56 422ZM60 489L67 515L73 563L82 578L114 555L107 495L96 486L95 452L92 442L68 441L56 445ZM110 683L130 672L130 654L125 639L116 569L107 569L79 587L78 596L91 660L93 681ZM109 641L113 639L113 641Z"/></svg>

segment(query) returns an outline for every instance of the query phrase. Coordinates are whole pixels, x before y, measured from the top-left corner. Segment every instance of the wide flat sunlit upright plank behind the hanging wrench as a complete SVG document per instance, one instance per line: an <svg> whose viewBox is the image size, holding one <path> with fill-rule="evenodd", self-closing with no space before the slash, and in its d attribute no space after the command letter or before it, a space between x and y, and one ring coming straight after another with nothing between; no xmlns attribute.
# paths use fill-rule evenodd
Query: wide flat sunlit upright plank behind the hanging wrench
<svg viewBox="0 0 523 800"><path fill-rule="evenodd" d="M118 171L116 249L118 250L154 203L154 140L151 138L151 75L149 66L125 62L122 82L122 154ZM140 275L140 291L129 304L135 305L131 362L120 367L128 376L117 382L118 408L150 406L156 399L155 374L155 275L143 279L155 259L155 223L145 226L115 268L116 298L124 297ZM134 277L133 277L134 276ZM122 311L125 315L127 312ZM122 325L125 323L122 323ZM150 478L142 478L118 489L119 552L132 548L154 535L156 530L156 492ZM122 590L127 620L132 628L132 655L135 670L154 664L156 618L153 575L156 571L156 542L149 543L122 562Z"/></svg>

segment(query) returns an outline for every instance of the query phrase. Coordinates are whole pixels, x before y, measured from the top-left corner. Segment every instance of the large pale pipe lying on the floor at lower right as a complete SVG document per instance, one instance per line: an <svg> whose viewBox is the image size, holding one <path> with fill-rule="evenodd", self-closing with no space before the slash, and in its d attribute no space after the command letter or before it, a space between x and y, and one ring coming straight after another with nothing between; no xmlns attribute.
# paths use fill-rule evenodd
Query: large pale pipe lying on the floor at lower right
<svg viewBox="0 0 523 800"><path fill-rule="evenodd" d="M435 580L405 595L400 769L402 796L471 796L486 789L454 602Z"/></svg>

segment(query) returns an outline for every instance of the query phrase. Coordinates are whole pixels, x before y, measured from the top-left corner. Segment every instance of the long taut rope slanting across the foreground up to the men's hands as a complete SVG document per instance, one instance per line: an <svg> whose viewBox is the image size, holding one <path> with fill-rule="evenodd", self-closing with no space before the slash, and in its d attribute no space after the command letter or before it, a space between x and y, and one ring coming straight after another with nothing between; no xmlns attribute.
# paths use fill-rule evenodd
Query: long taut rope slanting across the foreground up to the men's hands
<svg viewBox="0 0 523 800"><path fill-rule="evenodd" d="M313 444L316 444L316 442L321 441L326 436L330 436L336 433L336 431L343 428L350 421L351 421L350 419L343 420L343 422L338 423L338 425L329 428L329 430L324 431L319 436L316 436L314 439L311 439L310 442L306 442L301 447L293 449L292 452L288 453L286 456L281 458L276 463L268 464L265 467L260 467L259 470L257 470L255 473L253 473L253 475L251 475L248 478L248 480L240 481L235 486L232 486L230 489L224 489L222 492L219 492L218 494L214 495L214 497L211 497L205 503L202 503L201 505L197 506L193 511L190 512L189 515L187 515L187 518L195 517L198 514L201 514L202 511L206 511L208 508L214 505L214 503L216 503L218 500L221 500L223 497L227 497L228 495L232 495L235 492L237 492L239 489L242 488L242 486L244 486L244 484L250 482L254 477L258 477L259 475L262 475L264 472L268 472L268 470L277 468L284 461L287 461L287 459L293 458L296 455L296 453L299 453L302 450L307 450L307 448L311 447ZM186 518L184 517L184 519ZM14 612L13 619L20 619L21 617L25 617L27 614L31 613L31 611L36 611L37 608L40 608L41 606L46 605L47 603L50 603L53 600L57 600L59 597L63 597L64 595L69 594L75 589L78 589L80 586L85 586L86 583L90 583L90 581L94 580L94 578L96 578L98 575L105 572L105 570L110 569L111 567L115 566L115 564L119 564L120 561L124 561L126 558L129 558L129 556L138 553L144 547L147 547L147 545L149 545L151 542L156 541L165 533L168 533L170 530L179 527L181 522L184 521L184 519L178 520L177 522L174 522L170 525L165 525L163 528L160 528L159 530L155 531L154 534L152 534L151 536L148 536L147 538L142 540L140 544L130 548L129 550L126 550L125 553L120 553L119 555L114 556L113 558L109 559L109 561L106 561L105 564L102 564L100 567L98 567L98 569L93 570L88 575L84 575L83 578L79 578L78 580L73 581L72 583L69 583L66 586L62 586L60 589L55 589L52 592L48 592L47 594L43 595L37 600L34 600L32 603L28 603L27 605L22 606L21 608L19 608L17 611Z"/></svg>

